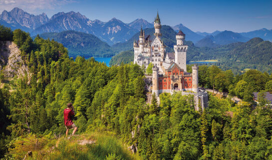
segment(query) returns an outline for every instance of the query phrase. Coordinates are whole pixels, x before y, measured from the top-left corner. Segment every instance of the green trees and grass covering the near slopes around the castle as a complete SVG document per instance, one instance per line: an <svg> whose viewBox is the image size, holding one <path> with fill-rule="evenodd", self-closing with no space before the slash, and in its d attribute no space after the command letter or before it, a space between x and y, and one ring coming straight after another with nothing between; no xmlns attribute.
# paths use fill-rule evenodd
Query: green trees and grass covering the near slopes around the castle
<svg viewBox="0 0 272 160"><path fill-rule="evenodd" d="M23 159L30 148L31 159L272 159L272 109L264 98L264 91L272 91L272 75L267 72L234 75L201 65L199 85L230 96L210 93L203 111L194 109L193 96L179 92L160 94L160 104L153 94L147 104L139 65L107 67L94 58L73 59L54 40L0 29L1 39L19 46L31 74L0 76L2 159ZM255 91L259 104L253 101ZM243 101L234 103L232 96ZM69 147L63 123L68 102L75 108L78 138L95 132L90 137L95 144ZM127 153L123 145L136 146L137 152Z"/></svg>

